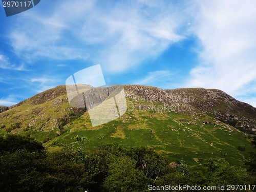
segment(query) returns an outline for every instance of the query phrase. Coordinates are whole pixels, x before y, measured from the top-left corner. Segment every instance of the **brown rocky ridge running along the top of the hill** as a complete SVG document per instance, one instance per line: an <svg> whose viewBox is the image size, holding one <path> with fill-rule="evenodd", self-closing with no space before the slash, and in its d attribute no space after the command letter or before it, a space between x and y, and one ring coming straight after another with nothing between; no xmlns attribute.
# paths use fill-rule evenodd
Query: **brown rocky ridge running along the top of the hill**
<svg viewBox="0 0 256 192"><path fill-rule="evenodd" d="M214 116L216 119L230 124L233 127L241 129L242 131L250 130L256 131L256 108L253 106L238 101L226 94L225 92L217 89L204 89L204 88L179 88L172 90L163 90L161 88L141 85L124 85L126 98L137 100L144 100L148 104L138 105L137 108L147 110L164 110L164 111L175 111L177 113L205 113L210 116ZM80 114L82 109L74 109L69 106L66 86L57 86L55 88L46 90L39 94L32 96L31 98L25 99L12 106L0 106L0 122L3 119L3 113L8 113L11 109L17 109L18 106L26 105L29 106L41 105L47 102L51 102L54 99L59 98L52 104L52 107L57 107L61 104L65 105L65 110L72 111L74 115ZM152 103L158 103L159 109L153 109L156 105ZM151 103L151 104L150 104ZM161 105L161 106L160 106ZM39 111L42 109L34 110L33 115L40 114ZM70 118L69 114L60 118ZM42 119L43 121L43 119ZM58 127L59 123L54 123ZM29 126L32 126L29 123ZM3 125L2 125L3 126Z"/></svg>

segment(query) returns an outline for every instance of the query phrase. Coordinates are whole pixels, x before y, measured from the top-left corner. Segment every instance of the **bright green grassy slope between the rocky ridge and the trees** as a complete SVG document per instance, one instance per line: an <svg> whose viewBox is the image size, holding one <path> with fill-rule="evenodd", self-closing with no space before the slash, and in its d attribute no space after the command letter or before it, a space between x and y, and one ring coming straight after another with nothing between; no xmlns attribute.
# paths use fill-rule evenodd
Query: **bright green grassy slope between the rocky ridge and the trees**
<svg viewBox="0 0 256 192"><path fill-rule="evenodd" d="M219 122L221 125L204 124L189 115L177 113L159 114L159 118L149 118L150 115L156 114L148 111L140 111L139 118L144 120L138 120L135 113L132 114L132 118L116 119L98 129L96 127L95 130L88 130L84 126L80 131L66 132L53 140L71 143L76 135L87 137L90 142L87 143L86 150L93 150L104 142L117 142L131 147L149 146L161 152L169 161L183 158L193 167L198 167L204 159L209 157L224 157L231 164L243 166L249 152L252 151L250 142L242 132L231 126L227 128L227 125L222 122ZM214 122L212 117L205 118ZM84 119L86 118L81 117L76 121L78 124L87 124L88 122L84 122ZM181 119L185 122L181 122ZM186 123L189 121L195 124ZM73 124L76 123L73 122ZM118 126L122 126L124 138L112 137L117 132ZM72 125L69 127L71 128ZM246 150L244 152L237 150L239 145L245 146ZM46 143L46 146L51 147L51 141ZM225 156L222 156L221 152Z"/></svg>

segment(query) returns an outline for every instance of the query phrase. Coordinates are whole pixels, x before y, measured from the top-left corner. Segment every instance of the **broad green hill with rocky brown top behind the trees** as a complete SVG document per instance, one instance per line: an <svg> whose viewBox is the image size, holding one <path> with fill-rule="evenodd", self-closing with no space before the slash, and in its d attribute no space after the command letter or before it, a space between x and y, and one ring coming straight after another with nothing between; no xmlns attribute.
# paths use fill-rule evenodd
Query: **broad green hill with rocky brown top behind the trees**
<svg viewBox="0 0 256 192"><path fill-rule="evenodd" d="M183 157L195 166L216 156L241 165L252 150L236 127L254 133L255 108L220 90L126 85L124 91L126 113L93 127L86 109L72 108L66 87L58 86L0 113L0 134L34 137L50 151L58 150L56 141L70 143L77 135L89 139L87 150L103 142L150 146L170 160Z"/></svg>

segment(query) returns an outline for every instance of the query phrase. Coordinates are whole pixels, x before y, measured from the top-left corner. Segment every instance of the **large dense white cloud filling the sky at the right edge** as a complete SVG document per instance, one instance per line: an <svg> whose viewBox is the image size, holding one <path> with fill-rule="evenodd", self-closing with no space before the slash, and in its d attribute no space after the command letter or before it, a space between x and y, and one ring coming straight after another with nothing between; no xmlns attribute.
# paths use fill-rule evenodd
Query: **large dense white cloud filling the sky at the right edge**
<svg viewBox="0 0 256 192"><path fill-rule="evenodd" d="M191 31L201 41L201 63L190 71L185 86L246 95L251 92L247 85L256 80L256 2L197 1L197 5Z"/></svg>

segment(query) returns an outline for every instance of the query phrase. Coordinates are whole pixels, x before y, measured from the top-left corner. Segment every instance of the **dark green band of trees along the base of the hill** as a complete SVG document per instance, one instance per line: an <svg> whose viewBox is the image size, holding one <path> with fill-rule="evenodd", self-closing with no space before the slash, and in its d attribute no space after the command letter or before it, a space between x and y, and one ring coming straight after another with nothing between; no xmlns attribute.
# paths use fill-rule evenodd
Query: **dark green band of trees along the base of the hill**
<svg viewBox="0 0 256 192"><path fill-rule="evenodd" d="M184 160L168 162L151 148L104 143L87 152L86 142L78 136L72 145L56 143L62 150L47 152L31 138L0 137L0 190L148 191L148 185L255 184L245 168L224 158L206 159L201 170L191 171Z"/></svg>

